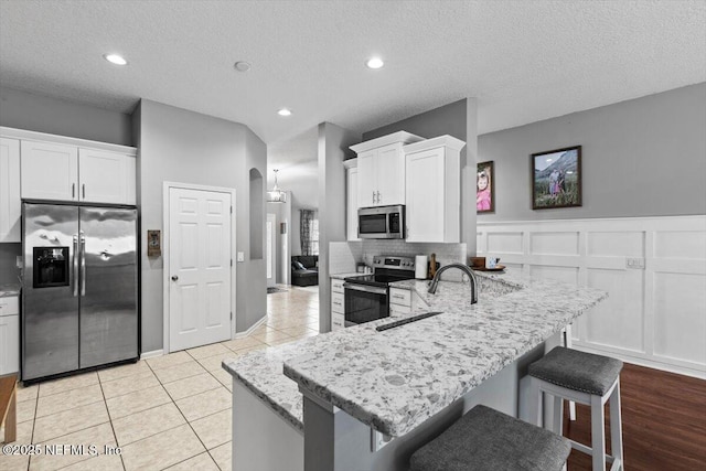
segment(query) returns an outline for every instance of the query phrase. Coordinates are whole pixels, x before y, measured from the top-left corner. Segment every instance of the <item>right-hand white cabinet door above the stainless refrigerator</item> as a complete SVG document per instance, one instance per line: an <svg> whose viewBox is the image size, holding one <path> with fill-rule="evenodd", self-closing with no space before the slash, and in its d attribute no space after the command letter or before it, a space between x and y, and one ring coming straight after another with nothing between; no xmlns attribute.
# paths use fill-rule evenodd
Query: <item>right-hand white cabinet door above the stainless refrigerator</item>
<svg viewBox="0 0 706 471"><path fill-rule="evenodd" d="M94 149L78 149L81 201L135 204L135 158Z"/></svg>

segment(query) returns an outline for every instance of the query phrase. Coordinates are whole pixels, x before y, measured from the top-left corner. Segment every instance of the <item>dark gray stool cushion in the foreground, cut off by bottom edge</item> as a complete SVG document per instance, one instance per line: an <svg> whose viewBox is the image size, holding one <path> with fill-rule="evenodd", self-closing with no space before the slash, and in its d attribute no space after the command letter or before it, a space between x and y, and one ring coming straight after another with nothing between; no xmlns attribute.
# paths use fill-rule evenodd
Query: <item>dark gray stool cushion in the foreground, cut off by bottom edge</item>
<svg viewBox="0 0 706 471"><path fill-rule="evenodd" d="M558 471L570 451L549 430L475 406L415 451L410 471Z"/></svg>

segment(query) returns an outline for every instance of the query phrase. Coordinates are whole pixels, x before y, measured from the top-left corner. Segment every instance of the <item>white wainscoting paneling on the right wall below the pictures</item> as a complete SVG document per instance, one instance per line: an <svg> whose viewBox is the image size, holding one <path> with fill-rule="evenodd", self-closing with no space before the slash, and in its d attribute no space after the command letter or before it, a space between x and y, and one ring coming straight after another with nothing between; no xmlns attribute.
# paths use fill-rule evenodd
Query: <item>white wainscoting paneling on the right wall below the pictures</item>
<svg viewBox="0 0 706 471"><path fill-rule="evenodd" d="M706 215L478 223L478 255L609 298L578 349L706 378Z"/></svg>

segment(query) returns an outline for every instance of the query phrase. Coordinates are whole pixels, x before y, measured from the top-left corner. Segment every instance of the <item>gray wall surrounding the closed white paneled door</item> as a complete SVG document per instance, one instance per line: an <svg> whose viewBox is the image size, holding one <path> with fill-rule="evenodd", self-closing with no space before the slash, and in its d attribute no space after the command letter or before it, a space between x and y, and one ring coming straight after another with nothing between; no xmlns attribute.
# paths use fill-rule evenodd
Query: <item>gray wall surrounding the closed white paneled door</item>
<svg viewBox="0 0 706 471"><path fill-rule="evenodd" d="M265 260L250 259L248 223L249 170L256 168L265 174L265 143L237 122L150 100L143 99L136 115L140 148L142 351L162 349L163 257L168 255L148 258L146 237L148 229L164 229L164 181L236 190L237 250L245 253L245 263L236 264L236 325L238 331L247 330L266 314ZM263 204L260 207L264 210ZM259 234L264 236L264 231Z"/></svg>

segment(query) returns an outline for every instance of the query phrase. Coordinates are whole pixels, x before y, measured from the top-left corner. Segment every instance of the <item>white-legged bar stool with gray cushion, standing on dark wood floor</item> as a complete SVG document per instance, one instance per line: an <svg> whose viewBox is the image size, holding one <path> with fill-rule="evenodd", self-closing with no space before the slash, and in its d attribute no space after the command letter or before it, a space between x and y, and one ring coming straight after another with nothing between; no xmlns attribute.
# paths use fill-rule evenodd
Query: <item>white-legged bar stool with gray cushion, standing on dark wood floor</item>
<svg viewBox="0 0 706 471"><path fill-rule="evenodd" d="M557 346L530 365L531 417L542 425L543 394L554 396L554 431L561 433L563 399L591 407L591 447L569 440L571 448L591 454L593 471L622 470L622 422L620 418L620 371L622 362L608 356ZM610 400L610 446L606 453L603 406Z"/></svg>

